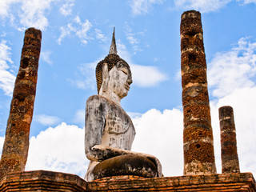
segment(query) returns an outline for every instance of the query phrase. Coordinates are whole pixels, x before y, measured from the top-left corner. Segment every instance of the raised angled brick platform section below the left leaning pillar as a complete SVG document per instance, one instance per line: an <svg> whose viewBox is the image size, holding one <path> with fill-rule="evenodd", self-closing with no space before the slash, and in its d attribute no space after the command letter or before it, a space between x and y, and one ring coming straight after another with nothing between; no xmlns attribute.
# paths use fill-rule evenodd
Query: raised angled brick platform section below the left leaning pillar
<svg viewBox="0 0 256 192"><path fill-rule="evenodd" d="M86 181L77 175L35 170L7 174L0 180L0 191L85 192L90 190L86 190Z"/></svg>

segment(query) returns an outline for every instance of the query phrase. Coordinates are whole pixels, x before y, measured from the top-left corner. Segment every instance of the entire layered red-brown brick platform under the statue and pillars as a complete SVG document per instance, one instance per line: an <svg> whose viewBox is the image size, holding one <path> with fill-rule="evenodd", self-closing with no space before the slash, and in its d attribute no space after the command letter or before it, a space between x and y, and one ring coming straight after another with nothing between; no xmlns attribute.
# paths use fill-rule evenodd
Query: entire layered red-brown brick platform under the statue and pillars
<svg viewBox="0 0 256 192"><path fill-rule="evenodd" d="M251 173L164 178L118 176L86 182L74 174L46 170L7 174L0 191L256 191Z"/></svg>

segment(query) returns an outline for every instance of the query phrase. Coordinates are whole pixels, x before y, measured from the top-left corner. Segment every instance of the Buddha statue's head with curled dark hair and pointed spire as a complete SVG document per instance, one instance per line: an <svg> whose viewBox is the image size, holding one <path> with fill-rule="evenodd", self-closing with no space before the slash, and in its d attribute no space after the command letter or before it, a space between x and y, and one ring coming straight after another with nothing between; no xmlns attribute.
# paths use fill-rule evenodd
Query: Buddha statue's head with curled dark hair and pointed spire
<svg viewBox="0 0 256 192"><path fill-rule="evenodd" d="M130 66L117 54L114 33L110 46L110 54L96 66L96 79L98 94L103 95L107 91L112 91L119 98L124 98L128 94L132 77Z"/></svg>

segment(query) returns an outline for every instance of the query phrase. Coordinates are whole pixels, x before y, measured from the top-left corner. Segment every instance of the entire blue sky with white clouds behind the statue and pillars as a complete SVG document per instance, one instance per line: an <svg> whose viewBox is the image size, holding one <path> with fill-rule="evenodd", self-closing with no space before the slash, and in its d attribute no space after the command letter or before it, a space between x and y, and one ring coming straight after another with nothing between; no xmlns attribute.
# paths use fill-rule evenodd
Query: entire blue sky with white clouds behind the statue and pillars
<svg viewBox="0 0 256 192"><path fill-rule="evenodd" d="M95 66L106 57L113 27L133 84L122 107L133 118L133 150L154 154L166 176L182 175L180 17L200 10L215 158L221 173L218 107L234 107L242 172L256 166L255 0L1 0L0 144L4 140L24 32L42 30L30 154L26 170L81 177L86 99L97 94Z"/></svg>

